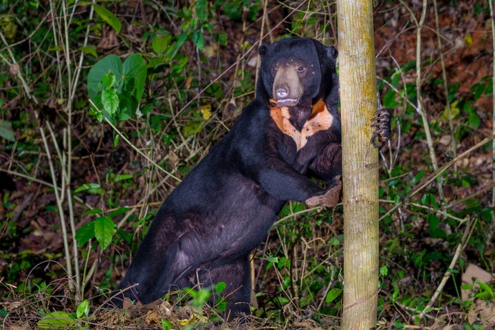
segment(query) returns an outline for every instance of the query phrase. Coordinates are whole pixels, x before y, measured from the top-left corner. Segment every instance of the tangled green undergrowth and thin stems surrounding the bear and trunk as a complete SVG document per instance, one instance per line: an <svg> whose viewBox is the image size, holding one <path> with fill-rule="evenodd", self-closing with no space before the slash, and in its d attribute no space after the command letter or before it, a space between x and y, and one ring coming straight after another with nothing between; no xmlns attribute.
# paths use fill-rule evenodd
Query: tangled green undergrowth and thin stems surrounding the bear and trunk
<svg viewBox="0 0 495 330"><path fill-rule="evenodd" d="M461 279L470 264L495 272L492 24L485 1L375 8L380 100L394 115L377 329L495 326L494 284ZM205 290L100 304L161 201L254 98L260 40L337 45L337 30L331 1L2 1L2 325L219 326L224 304ZM342 206L285 206L252 254L250 327L338 327L342 223Z"/></svg>

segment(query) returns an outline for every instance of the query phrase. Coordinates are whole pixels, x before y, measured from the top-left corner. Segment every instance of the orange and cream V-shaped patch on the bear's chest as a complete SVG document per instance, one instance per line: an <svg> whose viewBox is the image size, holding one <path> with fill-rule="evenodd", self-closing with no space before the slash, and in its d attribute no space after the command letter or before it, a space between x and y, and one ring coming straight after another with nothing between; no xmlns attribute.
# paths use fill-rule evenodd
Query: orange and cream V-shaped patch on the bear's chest
<svg viewBox="0 0 495 330"><path fill-rule="evenodd" d="M298 151L307 144L311 135L329 129L333 123L333 115L330 114L323 100L319 100L311 107L311 115L300 131L290 122L289 107L280 107L275 101L270 102L270 116L282 133L292 137Z"/></svg>

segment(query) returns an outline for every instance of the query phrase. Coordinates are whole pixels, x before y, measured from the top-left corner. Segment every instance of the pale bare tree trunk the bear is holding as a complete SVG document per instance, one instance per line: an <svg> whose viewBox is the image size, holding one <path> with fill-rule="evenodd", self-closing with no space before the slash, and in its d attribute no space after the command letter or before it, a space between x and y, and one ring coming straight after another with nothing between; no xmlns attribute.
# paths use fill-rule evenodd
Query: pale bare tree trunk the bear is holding
<svg viewBox="0 0 495 330"><path fill-rule="evenodd" d="M373 4L338 0L344 309L342 329L376 324L378 293L378 153L370 144L377 109Z"/></svg>

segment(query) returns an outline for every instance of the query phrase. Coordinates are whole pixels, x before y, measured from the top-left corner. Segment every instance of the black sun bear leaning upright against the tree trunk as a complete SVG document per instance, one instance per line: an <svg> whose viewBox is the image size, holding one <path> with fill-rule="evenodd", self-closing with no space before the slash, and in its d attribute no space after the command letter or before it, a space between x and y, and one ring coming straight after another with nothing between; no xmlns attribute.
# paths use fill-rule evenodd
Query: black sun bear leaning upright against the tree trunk
<svg viewBox="0 0 495 330"><path fill-rule="evenodd" d="M342 188L337 51L313 39L261 45L256 98L165 199L111 304L223 281L231 316L249 314L248 256L286 201L334 206ZM377 134L390 134L379 113ZM376 123L375 123L376 124ZM325 179L320 188L307 173ZM130 289L126 289L132 286Z"/></svg>

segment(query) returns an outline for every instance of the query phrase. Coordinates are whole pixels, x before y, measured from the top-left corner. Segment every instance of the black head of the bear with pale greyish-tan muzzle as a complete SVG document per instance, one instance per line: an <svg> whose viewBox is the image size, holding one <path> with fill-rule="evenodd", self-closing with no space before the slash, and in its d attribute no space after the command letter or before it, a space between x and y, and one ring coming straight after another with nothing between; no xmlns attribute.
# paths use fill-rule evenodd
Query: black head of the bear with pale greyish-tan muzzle
<svg viewBox="0 0 495 330"><path fill-rule="evenodd" d="M337 50L309 38L281 39L259 48L256 96L292 107L300 100L326 98L338 88Z"/></svg>

